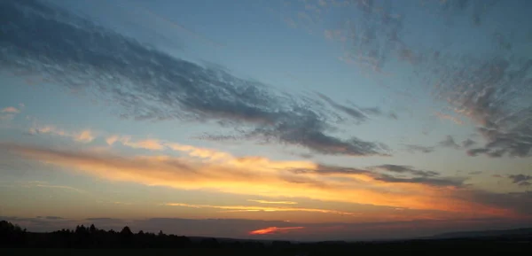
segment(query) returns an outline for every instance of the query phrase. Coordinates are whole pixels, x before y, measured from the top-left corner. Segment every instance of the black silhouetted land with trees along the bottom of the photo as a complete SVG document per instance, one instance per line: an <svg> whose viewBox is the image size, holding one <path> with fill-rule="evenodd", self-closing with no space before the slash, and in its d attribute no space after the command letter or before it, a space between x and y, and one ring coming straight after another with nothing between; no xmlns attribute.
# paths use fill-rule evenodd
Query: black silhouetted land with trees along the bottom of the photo
<svg viewBox="0 0 532 256"><path fill-rule="evenodd" d="M497 233L470 238L393 242L320 242L223 240L85 228L32 233L0 221L0 255L528 255L532 232Z"/></svg>

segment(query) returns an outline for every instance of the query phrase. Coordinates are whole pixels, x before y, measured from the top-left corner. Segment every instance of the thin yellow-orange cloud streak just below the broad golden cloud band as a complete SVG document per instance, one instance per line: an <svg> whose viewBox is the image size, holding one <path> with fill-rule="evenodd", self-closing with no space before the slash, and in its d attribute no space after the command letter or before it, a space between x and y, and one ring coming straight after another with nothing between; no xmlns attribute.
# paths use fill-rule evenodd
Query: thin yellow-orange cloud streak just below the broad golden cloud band
<svg viewBox="0 0 532 256"><path fill-rule="evenodd" d="M307 213L329 213L340 215L356 215L356 213L341 212L335 210L300 208L300 207L266 207L266 206L208 206L208 205L189 205L182 203L165 203L163 206L182 206L191 208L214 208L227 210L229 212L307 212Z"/></svg>

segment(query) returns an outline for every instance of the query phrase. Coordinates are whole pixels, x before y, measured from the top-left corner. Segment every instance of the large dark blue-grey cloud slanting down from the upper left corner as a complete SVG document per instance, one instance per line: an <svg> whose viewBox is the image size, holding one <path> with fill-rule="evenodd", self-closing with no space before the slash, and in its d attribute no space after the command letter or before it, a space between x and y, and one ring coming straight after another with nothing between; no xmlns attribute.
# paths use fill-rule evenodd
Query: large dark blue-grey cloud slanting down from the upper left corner
<svg viewBox="0 0 532 256"><path fill-rule="evenodd" d="M10 24L0 51L4 70L94 91L98 100L115 103L122 118L221 120L246 139L330 155L387 155L383 144L330 135L336 115L303 97L171 57L41 2L4 1L2 6Z"/></svg>

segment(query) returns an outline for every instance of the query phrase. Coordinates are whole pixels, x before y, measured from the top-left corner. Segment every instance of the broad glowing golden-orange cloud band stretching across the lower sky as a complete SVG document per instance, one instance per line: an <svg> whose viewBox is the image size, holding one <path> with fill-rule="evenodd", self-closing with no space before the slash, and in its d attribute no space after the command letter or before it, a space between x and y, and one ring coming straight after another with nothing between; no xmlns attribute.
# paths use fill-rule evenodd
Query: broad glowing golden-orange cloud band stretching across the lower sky
<svg viewBox="0 0 532 256"><path fill-rule="evenodd" d="M0 144L0 148L25 159L62 167L65 171L82 171L112 181L181 190L215 190L269 198L289 196L462 213L507 214L508 211L450 198L449 193L455 189L434 186L450 185L450 182L441 181L442 178L421 176L392 180L387 175L375 175L355 168L326 167L309 161L276 161L261 157L121 156L109 152L58 150L20 144Z"/></svg>

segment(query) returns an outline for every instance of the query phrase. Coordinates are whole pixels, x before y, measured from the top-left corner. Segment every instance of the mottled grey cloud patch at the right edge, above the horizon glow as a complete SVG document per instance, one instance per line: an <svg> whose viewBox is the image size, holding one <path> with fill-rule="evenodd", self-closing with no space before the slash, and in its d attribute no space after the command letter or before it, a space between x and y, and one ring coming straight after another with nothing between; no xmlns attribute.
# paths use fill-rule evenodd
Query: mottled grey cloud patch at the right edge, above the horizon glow
<svg viewBox="0 0 532 256"><path fill-rule="evenodd" d="M479 62L471 64L471 72L451 74L450 82L456 84L447 85L449 92L444 94L450 95L448 101L455 112L479 125L477 131L487 141L467 153L493 158L530 156L532 105L528 77L532 60L497 57Z"/></svg>

